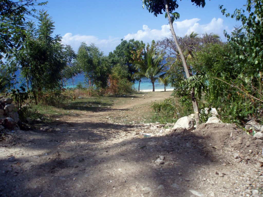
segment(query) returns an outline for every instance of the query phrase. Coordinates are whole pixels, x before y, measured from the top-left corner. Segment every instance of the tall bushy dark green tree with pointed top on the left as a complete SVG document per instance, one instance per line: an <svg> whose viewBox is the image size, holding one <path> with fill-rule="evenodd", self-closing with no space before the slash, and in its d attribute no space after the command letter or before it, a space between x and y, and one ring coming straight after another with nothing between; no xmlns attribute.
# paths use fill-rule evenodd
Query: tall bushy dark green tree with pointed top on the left
<svg viewBox="0 0 263 197"><path fill-rule="evenodd" d="M61 71L66 65L61 37L52 36L52 18L46 11L40 11L37 19L37 27L34 22L27 23L23 48L9 61L10 66L20 67L22 75L31 85L36 103L40 100L43 90L59 87Z"/></svg>

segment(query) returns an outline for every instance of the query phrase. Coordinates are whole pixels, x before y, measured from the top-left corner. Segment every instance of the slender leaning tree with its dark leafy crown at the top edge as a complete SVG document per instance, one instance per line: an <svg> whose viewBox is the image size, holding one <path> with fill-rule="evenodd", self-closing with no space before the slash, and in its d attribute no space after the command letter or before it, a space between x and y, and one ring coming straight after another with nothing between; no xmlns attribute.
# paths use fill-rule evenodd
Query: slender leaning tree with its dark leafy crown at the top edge
<svg viewBox="0 0 263 197"><path fill-rule="evenodd" d="M168 20L169 20L170 30L171 30L176 48L180 54L180 58L181 58L182 63L183 63L186 78L189 78L191 75L190 75L188 66L186 64L185 56L183 54L183 51L181 50L181 47L179 45L178 39L176 37L176 34L174 32L174 28L173 28L174 20L178 19L180 17L178 12L174 12L175 9L177 9L179 6L177 1L176 0L163 0L163 1L162 0L142 0L142 1L143 1L143 8L144 8L144 6L146 6L146 9L149 12L154 13L154 15L156 17L158 14L162 14L163 11L165 12L165 18L168 18ZM196 6L199 6L199 7L205 6L205 0L191 0L191 2L193 2L194 4L196 4ZM198 103L197 103L196 98L195 98L194 89L191 90L191 100L192 100L193 109L195 112L196 126L199 126L199 108L198 108Z"/></svg>

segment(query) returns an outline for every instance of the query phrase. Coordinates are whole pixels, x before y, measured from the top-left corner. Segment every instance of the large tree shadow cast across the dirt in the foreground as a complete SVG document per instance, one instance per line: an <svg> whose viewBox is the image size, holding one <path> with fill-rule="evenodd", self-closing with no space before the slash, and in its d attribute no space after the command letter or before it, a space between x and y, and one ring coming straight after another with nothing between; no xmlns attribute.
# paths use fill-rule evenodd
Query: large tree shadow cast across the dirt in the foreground
<svg viewBox="0 0 263 197"><path fill-rule="evenodd" d="M71 124L14 139L16 161L0 161L0 196L190 196L200 166L214 160L193 132L143 138L138 126Z"/></svg>

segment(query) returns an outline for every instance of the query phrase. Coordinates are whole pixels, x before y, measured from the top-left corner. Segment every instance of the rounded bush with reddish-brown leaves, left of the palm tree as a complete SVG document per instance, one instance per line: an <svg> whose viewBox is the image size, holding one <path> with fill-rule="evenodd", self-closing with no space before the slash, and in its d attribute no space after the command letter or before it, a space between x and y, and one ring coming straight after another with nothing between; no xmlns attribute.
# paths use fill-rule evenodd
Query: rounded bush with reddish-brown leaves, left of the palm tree
<svg viewBox="0 0 263 197"><path fill-rule="evenodd" d="M128 80L128 68L125 66L116 65L112 68L112 73L109 75L108 91L112 93L132 92L133 83Z"/></svg>

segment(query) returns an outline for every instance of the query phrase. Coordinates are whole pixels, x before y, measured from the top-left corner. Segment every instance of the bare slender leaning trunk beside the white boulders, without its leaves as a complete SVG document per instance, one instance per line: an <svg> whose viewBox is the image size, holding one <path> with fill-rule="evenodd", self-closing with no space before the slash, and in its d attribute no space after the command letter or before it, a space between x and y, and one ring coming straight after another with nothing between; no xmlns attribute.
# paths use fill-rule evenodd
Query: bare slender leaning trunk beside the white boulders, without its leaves
<svg viewBox="0 0 263 197"><path fill-rule="evenodd" d="M173 23L172 23L172 19L171 19L171 16L170 16L168 3L167 3L166 0L164 0L164 4L165 4L165 9L166 9L166 13L167 13L167 16L168 16L169 24L170 24L170 30L171 30L171 33L172 33L172 36L173 36L176 48L178 49L180 57L182 59L186 78L188 79L190 77L190 72L189 72L188 66L186 64L186 60L185 60L183 51L182 51L182 49L181 49L181 47L180 47L180 45L178 43L176 34L174 32ZM195 112L195 124L196 124L196 127L198 127L199 126L199 109L198 109L198 103L197 103L196 98L195 98L194 89L191 90L191 100L192 100L193 108L194 108L194 112Z"/></svg>

